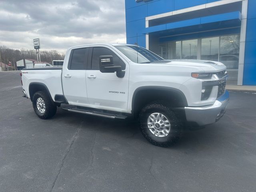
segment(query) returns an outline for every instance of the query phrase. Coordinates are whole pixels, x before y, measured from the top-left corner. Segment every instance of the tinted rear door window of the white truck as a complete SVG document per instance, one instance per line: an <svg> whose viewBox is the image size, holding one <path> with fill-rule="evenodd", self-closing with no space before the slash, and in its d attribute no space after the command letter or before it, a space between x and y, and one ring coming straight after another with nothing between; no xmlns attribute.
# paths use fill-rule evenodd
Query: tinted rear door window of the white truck
<svg viewBox="0 0 256 192"><path fill-rule="evenodd" d="M73 50L72 60L69 69L71 70L84 70L86 69L87 56L86 48Z"/></svg>

